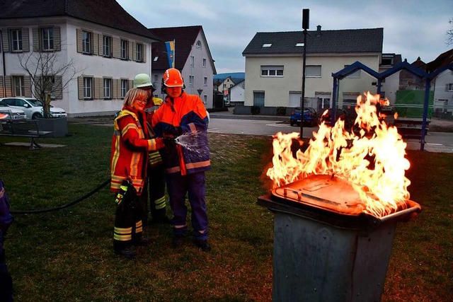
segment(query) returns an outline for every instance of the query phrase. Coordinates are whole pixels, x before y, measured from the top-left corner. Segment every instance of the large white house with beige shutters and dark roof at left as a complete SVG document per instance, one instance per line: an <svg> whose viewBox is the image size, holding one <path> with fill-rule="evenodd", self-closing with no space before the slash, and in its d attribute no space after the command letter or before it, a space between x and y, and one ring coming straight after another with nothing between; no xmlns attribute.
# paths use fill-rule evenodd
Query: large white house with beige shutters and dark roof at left
<svg viewBox="0 0 453 302"><path fill-rule="evenodd" d="M134 76L151 73L151 43L159 41L114 0L0 1L0 31L1 97L31 97L36 83L20 59L52 54L55 69L74 67L74 80L36 72L59 87L52 105L69 116L120 110Z"/></svg>

